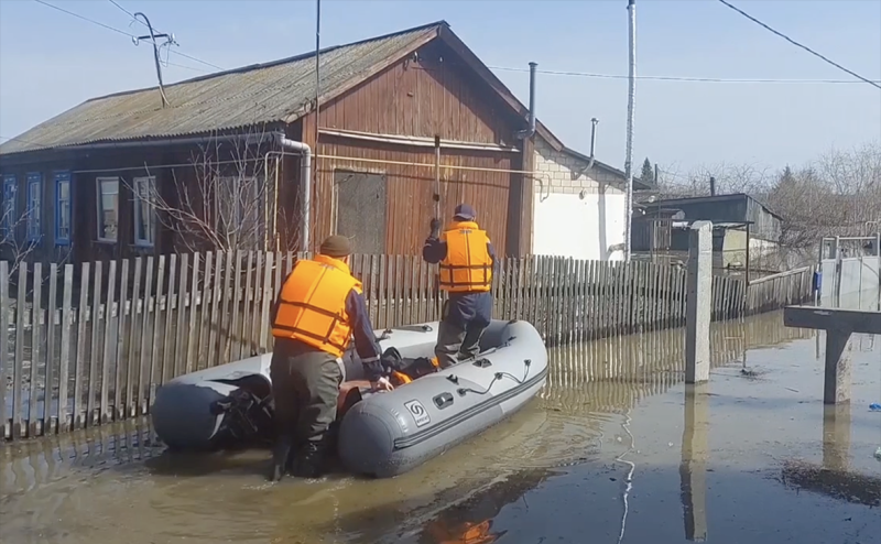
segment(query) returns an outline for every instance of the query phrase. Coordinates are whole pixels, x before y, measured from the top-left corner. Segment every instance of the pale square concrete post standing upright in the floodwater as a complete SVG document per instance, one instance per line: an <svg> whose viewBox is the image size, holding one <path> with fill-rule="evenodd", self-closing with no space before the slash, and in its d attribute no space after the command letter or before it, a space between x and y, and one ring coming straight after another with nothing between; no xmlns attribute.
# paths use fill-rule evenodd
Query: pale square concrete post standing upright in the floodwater
<svg viewBox="0 0 881 544"><path fill-rule="evenodd" d="M709 380L709 323L713 318L713 224L695 221L688 238L685 298L685 383Z"/></svg>

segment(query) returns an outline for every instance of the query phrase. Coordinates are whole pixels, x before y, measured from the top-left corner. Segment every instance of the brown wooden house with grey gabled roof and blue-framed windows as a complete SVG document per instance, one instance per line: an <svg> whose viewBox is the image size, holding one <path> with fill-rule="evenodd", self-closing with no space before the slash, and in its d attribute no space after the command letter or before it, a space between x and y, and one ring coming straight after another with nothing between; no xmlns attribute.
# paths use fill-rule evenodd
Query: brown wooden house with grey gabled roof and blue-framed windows
<svg viewBox="0 0 881 544"><path fill-rule="evenodd" d="M95 98L4 143L0 255L290 250L304 231L308 249L338 232L415 254L436 174L443 219L468 202L500 252L530 252L529 110L446 22L318 57L317 108L309 53L165 86L167 104L155 87Z"/></svg>

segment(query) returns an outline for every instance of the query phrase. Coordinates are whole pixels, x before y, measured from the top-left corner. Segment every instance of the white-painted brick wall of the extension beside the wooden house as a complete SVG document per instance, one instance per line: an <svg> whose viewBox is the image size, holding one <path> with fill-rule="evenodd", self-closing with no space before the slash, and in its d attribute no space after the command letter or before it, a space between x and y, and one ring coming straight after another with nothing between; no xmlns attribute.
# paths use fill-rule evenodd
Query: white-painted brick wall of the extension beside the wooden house
<svg viewBox="0 0 881 544"><path fill-rule="evenodd" d="M589 260L623 260L624 179L557 152L537 134L532 252Z"/></svg>

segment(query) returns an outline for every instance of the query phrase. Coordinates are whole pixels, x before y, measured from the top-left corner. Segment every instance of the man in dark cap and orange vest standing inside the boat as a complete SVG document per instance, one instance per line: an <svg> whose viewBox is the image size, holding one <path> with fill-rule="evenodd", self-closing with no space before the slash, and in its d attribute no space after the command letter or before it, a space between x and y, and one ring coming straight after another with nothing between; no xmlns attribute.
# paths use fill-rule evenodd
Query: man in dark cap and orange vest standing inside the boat
<svg viewBox="0 0 881 544"><path fill-rule="evenodd" d="M471 206L459 204L444 232L440 221L432 219L432 232L422 248L426 262L440 263L439 287L448 295L434 348L440 368L476 357L480 336L492 319L496 251L475 218Z"/></svg>

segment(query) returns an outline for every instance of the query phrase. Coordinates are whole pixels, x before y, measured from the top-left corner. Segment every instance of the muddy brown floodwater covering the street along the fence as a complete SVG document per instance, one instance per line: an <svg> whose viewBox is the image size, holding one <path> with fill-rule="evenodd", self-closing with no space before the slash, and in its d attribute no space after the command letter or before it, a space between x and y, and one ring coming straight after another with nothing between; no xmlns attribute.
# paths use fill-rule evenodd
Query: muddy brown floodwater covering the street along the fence
<svg viewBox="0 0 881 544"><path fill-rule="evenodd" d="M881 543L881 337L856 337L849 409L823 342L766 314L552 350L508 422L389 480L265 482L268 451L168 456L134 422L0 449L0 542Z"/></svg>

